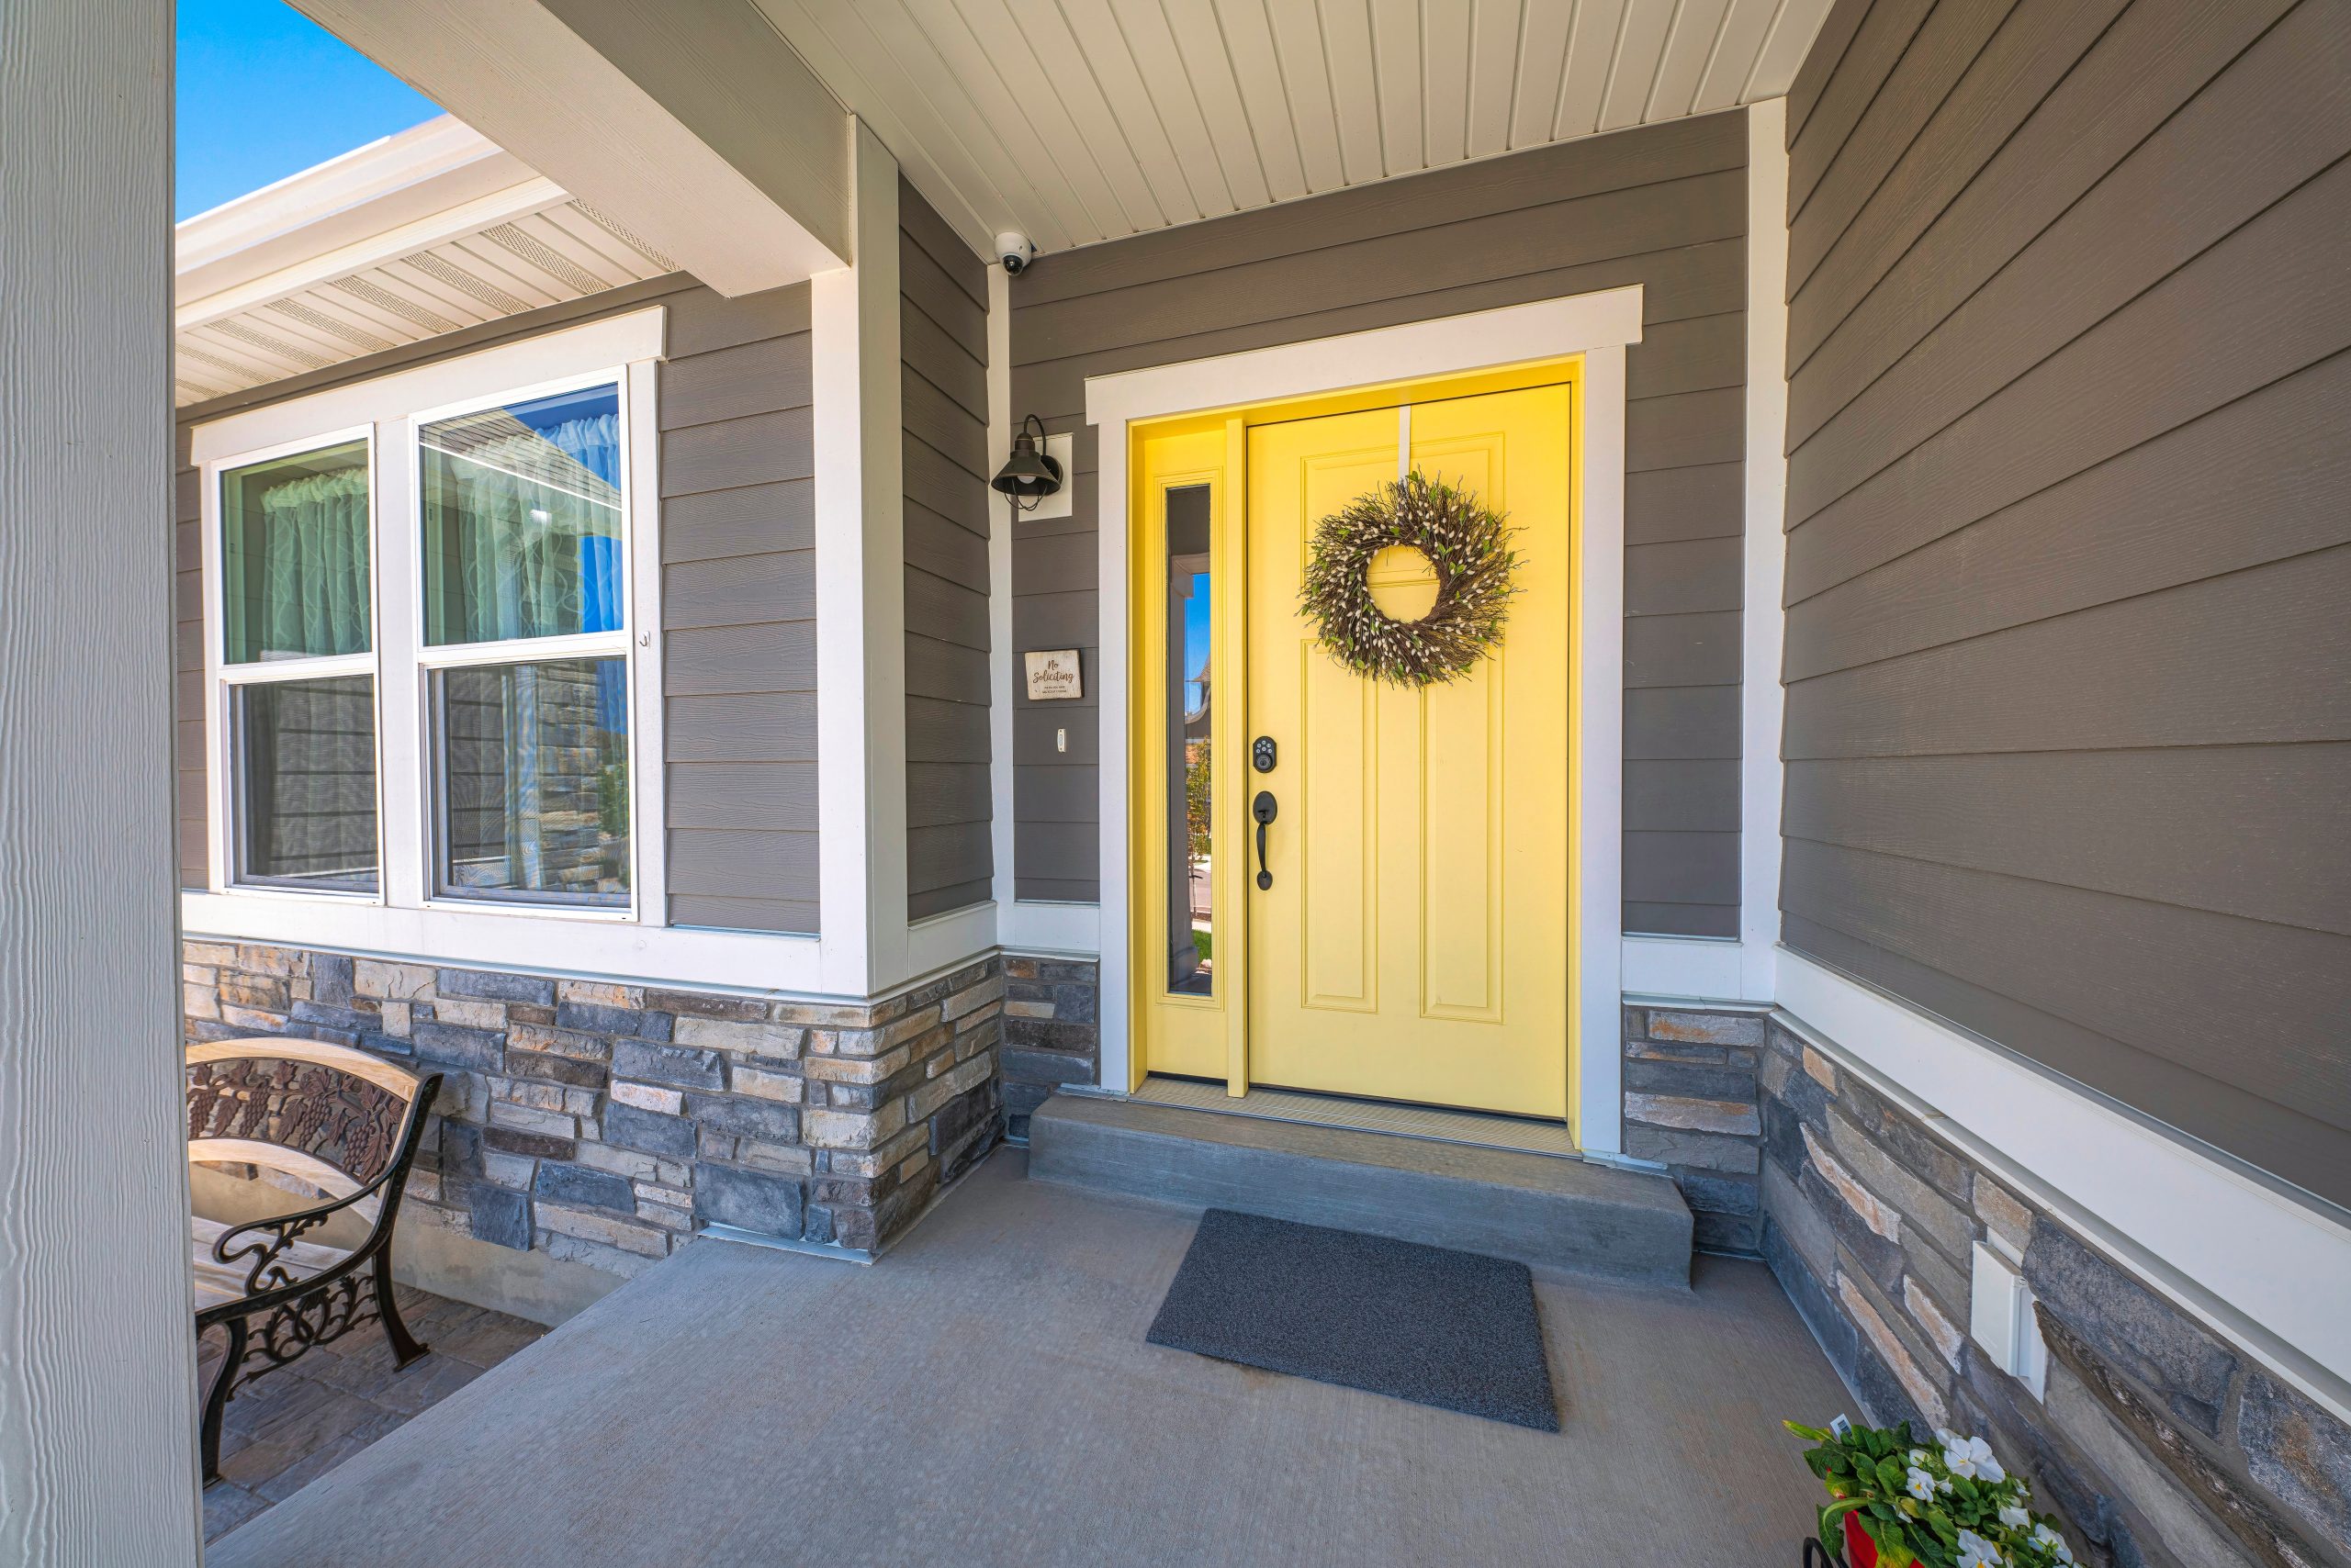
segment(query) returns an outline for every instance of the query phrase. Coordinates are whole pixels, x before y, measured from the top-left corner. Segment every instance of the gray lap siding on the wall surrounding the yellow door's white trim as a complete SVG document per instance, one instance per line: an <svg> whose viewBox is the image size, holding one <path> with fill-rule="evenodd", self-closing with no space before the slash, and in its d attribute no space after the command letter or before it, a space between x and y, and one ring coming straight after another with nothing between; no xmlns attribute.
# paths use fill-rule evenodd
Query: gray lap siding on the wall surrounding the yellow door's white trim
<svg viewBox="0 0 2351 1568"><path fill-rule="evenodd" d="M1074 517L1016 524L1013 649L1081 649L1091 698L1100 454L1086 376L1636 282L1625 738L1627 825L1646 825L1627 827L1625 922L1735 933L1744 167L1744 115L1709 115L1039 259L1013 282L1013 407L1079 430L1077 501ZM1016 689L1013 736L1016 893L1100 898L1096 708L1032 710ZM1693 804L1719 795L1723 762L1728 827Z"/></svg>

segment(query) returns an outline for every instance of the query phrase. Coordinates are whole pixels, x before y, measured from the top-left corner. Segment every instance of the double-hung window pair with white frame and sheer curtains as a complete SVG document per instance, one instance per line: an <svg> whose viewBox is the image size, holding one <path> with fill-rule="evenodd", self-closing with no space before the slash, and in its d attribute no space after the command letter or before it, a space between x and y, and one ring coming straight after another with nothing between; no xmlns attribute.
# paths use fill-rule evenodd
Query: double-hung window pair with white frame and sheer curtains
<svg viewBox="0 0 2351 1568"><path fill-rule="evenodd" d="M480 360L197 440L221 891L658 922L651 364Z"/></svg>

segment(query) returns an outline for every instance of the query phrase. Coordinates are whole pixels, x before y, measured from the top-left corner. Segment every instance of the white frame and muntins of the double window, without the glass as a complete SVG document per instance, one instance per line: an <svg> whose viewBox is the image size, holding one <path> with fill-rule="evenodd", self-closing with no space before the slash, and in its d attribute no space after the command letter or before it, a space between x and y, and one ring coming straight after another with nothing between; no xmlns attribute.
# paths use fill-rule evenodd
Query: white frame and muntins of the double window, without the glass
<svg viewBox="0 0 2351 1568"><path fill-rule="evenodd" d="M209 769L207 893L230 907L376 905L428 924L473 929L496 922L567 922L663 926L668 910L661 703L661 477L656 362L661 308L607 317L522 343L397 371L235 414L202 425L193 456L202 484L205 562L205 748ZM621 630L527 637L489 644L423 642L421 430L451 414L480 411L548 393L618 388L623 585ZM263 665L226 663L221 607L221 477L270 456L292 456L367 437L369 442L369 654ZM390 534L388 534L390 529ZM437 670L550 658L628 658L630 722L630 898L625 905L578 905L552 898L447 896L440 882L435 736L428 691ZM348 668L346 668L348 665ZM289 889L237 882L235 736L228 698L256 679L371 675L376 682L376 893ZM357 910L355 910L357 912ZM242 924L242 922L240 922ZM277 924L277 922L268 922ZM200 926L193 926L200 929Z"/></svg>

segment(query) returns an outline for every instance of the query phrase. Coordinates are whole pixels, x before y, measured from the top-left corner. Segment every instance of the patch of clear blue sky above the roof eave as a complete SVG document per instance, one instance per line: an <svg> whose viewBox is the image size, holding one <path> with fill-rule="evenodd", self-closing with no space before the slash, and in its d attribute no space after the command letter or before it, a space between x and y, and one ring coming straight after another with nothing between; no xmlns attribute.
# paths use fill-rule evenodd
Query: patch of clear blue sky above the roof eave
<svg viewBox="0 0 2351 1568"><path fill-rule="evenodd" d="M174 219L440 113L280 0L179 0Z"/></svg>

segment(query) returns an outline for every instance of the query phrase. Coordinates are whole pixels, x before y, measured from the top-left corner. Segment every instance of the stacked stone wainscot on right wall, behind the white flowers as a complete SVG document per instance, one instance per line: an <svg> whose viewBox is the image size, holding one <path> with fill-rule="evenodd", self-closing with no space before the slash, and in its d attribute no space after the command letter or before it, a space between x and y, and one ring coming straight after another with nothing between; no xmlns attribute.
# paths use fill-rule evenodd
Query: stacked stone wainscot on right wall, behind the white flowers
<svg viewBox="0 0 2351 1568"><path fill-rule="evenodd" d="M1763 1255L1871 1422L1987 1436L2071 1521L2085 1563L2351 1566L2351 1427L1876 1093L1834 1044L1770 1020L1759 1084ZM1977 1244L2034 1291L2038 1396L1968 1335Z"/></svg>

